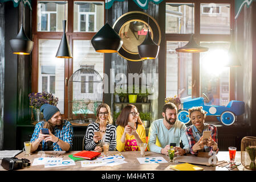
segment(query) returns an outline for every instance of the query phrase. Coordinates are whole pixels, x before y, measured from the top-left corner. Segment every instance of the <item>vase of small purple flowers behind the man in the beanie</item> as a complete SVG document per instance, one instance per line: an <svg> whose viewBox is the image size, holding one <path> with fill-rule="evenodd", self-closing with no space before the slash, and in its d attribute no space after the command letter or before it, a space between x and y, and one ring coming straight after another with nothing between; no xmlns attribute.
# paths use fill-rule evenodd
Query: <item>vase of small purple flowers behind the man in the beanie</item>
<svg viewBox="0 0 256 182"><path fill-rule="evenodd" d="M30 107L32 108L32 118L36 121L43 119L43 113L40 112L40 107L44 104L57 106L59 98L55 97L52 93L30 93L29 94ZM34 115L34 117L33 117Z"/></svg>

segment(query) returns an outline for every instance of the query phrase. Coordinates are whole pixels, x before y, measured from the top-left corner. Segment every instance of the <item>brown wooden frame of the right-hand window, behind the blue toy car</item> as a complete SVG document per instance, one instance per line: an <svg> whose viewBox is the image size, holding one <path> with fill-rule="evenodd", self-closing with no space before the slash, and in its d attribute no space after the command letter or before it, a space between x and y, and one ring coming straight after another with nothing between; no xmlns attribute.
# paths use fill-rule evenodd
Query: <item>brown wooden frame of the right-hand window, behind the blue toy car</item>
<svg viewBox="0 0 256 182"><path fill-rule="evenodd" d="M233 0L166 0L165 3L192 3L194 4L194 38L197 43L200 42L230 42L230 34L201 34L200 33L200 15L201 3L228 3L230 4L230 29L234 30L234 1ZM165 5L166 6L166 5ZM168 41L188 42L191 34L167 34L165 33L165 47ZM166 50L165 50L166 65ZM234 68L229 69L229 100L235 100L234 94ZM192 53L192 98L201 97L200 93L200 53ZM165 69L165 96L166 96L166 69ZM216 121L216 118L206 118L208 121Z"/></svg>

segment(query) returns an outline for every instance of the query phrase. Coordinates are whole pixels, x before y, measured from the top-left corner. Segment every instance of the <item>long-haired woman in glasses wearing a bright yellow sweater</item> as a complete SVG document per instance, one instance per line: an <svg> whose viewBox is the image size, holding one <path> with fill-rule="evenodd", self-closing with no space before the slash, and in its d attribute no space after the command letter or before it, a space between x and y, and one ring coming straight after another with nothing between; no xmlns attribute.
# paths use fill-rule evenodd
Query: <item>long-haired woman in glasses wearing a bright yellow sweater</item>
<svg viewBox="0 0 256 182"><path fill-rule="evenodd" d="M134 127L129 126L128 122L132 122ZM146 130L135 105L125 106L116 124L116 149L119 152L139 151L139 143L146 143Z"/></svg>

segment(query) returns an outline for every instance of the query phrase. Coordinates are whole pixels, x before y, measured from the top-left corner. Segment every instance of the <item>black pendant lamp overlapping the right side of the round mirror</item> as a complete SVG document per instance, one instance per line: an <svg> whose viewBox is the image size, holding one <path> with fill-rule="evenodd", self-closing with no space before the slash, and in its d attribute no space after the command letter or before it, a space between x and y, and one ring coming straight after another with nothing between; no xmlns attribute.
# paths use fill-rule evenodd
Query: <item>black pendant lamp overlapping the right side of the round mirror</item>
<svg viewBox="0 0 256 182"><path fill-rule="evenodd" d="M156 59L159 54L158 46L151 38L149 33L149 17L148 17L148 32L143 43L138 46L138 51L141 59Z"/></svg>

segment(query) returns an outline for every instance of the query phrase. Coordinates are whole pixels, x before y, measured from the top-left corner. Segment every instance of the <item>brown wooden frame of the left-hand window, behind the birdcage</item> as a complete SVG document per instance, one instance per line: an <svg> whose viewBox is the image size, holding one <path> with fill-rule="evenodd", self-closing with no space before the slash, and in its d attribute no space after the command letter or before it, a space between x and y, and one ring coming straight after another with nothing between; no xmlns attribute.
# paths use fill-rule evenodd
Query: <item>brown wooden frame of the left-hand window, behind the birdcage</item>
<svg viewBox="0 0 256 182"><path fill-rule="evenodd" d="M38 1L32 2L32 41L34 42L34 48L32 50L32 63L31 63L31 92L38 92L38 48L39 39L61 39L63 32L47 32L47 31L37 31L37 4ZM49 0L47 0L49 1ZM64 0L50 0L50 1L64 1ZM71 52L73 52L73 42L74 40L91 40L96 32L74 32L74 1L84 1L84 0L66 0L67 2L67 28L66 35L67 40L70 45ZM104 0L86 0L87 2L103 2L104 5L104 22L105 22L105 1ZM68 78L73 74L73 59L62 59L64 61L64 113L61 114L62 118L68 118ZM105 55L103 57L103 68L105 67ZM103 73L105 70L103 69ZM104 97L103 97L104 100Z"/></svg>

